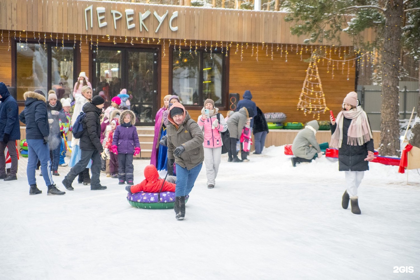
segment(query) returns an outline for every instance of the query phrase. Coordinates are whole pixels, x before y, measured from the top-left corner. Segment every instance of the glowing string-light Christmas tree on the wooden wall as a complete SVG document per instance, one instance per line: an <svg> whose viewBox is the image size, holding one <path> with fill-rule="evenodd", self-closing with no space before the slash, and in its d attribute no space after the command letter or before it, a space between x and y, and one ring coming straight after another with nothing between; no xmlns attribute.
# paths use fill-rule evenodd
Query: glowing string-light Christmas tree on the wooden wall
<svg viewBox="0 0 420 280"><path fill-rule="evenodd" d="M304 115L312 115L320 119L320 113L329 110L325 102L325 94L322 90L321 79L316 64L316 55L313 54L306 70L306 77L300 92L297 110L302 110Z"/></svg>

